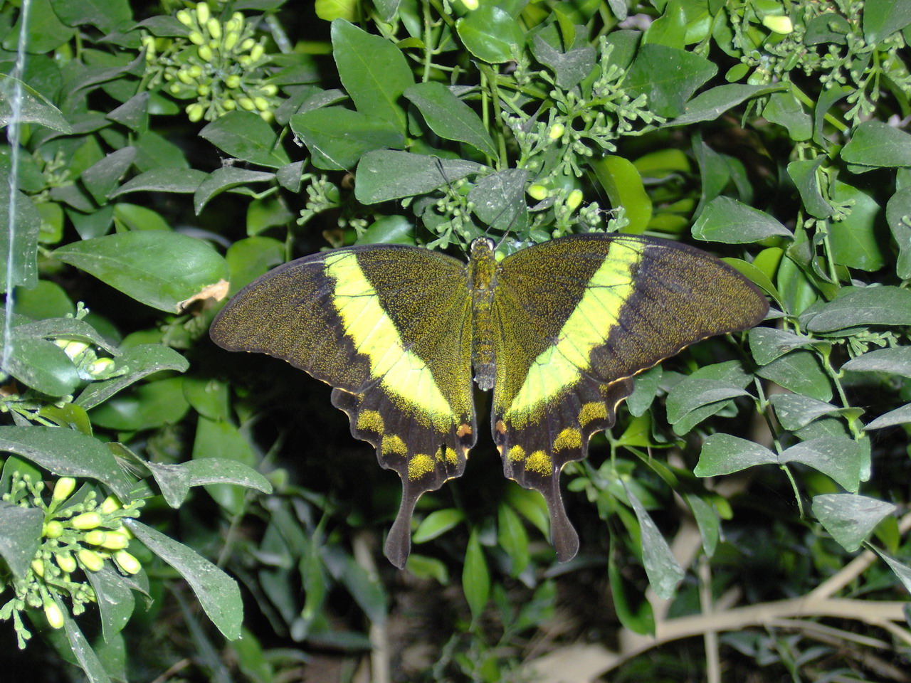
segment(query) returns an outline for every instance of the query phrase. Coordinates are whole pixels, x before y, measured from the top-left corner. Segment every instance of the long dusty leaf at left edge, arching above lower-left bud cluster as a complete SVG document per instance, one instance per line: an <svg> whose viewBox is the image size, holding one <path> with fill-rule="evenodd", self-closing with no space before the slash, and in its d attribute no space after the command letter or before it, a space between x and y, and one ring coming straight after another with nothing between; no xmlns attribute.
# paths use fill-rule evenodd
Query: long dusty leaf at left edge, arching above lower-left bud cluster
<svg viewBox="0 0 911 683"><path fill-rule="evenodd" d="M62 427L0 427L0 451L30 460L56 476L87 477L106 484L121 501L132 484L97 439Z"/></svg>

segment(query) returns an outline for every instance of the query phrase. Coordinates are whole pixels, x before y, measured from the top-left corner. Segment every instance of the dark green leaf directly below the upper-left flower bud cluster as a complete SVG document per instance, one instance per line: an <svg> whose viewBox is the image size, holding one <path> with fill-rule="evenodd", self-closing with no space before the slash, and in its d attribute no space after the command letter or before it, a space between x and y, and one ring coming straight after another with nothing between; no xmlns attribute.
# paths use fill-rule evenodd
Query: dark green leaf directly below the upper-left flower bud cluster
<svg viewBox="0 0 911 683"><path fill-rule="evenodd" d="M291 163L272 127L251 111L235 110L216 118L200 130L200 138L251 164L281 168Z"/></svg>

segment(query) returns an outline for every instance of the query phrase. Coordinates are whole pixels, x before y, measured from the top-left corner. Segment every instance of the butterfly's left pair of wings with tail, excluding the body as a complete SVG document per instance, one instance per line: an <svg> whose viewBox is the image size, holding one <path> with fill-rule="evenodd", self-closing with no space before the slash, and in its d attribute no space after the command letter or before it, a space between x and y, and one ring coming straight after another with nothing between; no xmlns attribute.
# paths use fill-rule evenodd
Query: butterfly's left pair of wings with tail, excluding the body
<svg viewBox="0 0 911 683"><path fill-rule="evenodd" d="M460 476L476 441L469 307L464 263L372 245L271 270L210 328L224 349L281 358L333 386L353 436L402 479L385 544L400 568L418 497Z"/></svg>

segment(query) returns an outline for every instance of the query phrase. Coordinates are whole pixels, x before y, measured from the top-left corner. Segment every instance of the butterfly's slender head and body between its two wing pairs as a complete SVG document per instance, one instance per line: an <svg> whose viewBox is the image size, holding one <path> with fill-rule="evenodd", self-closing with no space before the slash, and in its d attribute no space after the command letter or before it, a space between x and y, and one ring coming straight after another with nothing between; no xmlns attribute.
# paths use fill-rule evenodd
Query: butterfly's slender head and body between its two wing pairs
<svg viewBox="0 0 911 683"><path fill-rule="evenodd" d="M494 326L491 304L496 287L496 258L494 242L486 237L471 243L468 260L468 289L471 291L472 330L471 364L475 368L475 382L487 391L494 386L496 375L494 358Z"/></svg>

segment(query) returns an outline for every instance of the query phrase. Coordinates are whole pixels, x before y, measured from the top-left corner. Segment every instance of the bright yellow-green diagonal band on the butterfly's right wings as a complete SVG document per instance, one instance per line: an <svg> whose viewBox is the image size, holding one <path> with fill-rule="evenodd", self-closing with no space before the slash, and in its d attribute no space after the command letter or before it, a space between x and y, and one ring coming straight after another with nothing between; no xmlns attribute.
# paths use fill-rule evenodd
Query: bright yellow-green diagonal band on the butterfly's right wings
<svg viewBox="0 0 911 683"><path fill-rule="evenodd" d="M610 245L576 310L563 323L557 343L538 354L528 368L525 381L507 409L507 418L517 424L527 423L531 413L578 382L581 371L589 369L590 353L607 341L632 294L632 271L642 258L642 249L619 241Z"/></svg>

